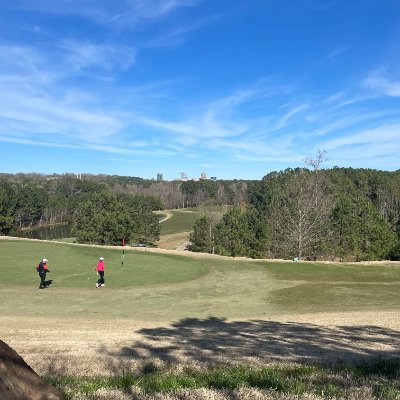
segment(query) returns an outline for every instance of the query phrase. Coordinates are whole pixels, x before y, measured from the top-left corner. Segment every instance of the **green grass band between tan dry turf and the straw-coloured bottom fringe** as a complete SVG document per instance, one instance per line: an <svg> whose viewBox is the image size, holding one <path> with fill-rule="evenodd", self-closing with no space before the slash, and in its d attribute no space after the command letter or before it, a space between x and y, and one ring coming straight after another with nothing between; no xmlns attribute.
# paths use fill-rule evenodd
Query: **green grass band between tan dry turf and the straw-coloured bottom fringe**
<svg viewBox="0 0 400 400"><path fill-rule="evenodd" d="M383 364L390 365L390 370L382 369ZM207 369L185 367L180 371L158 370L148 365L135 375L122 372L112 377L48 376L46 380L70 399L74 398L74 393L95 395L100 389L130 392L134 387L141 394L165 394L185 389L235 390L249 387L283 395L304 396L302 398L314 395L321 399L348 398L352 392L362 388L365 392L372 392L376 400L395 400L400 398L399 378L399 359L377 359L369 364L352 366L220 365Z"/></svg>

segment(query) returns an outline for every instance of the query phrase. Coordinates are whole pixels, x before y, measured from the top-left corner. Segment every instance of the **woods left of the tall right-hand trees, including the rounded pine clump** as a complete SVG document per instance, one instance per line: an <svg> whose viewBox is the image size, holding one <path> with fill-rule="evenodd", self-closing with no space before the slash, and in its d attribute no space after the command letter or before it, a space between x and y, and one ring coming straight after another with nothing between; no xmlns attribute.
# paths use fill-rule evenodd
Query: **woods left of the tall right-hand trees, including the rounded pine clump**
<svg viewBox="0 0 400 400"><path fill-rule="evenodd" d="M195 207L207 201L242 204L246 196L244 181L167 182L115 175L0 174L0 234L18 235L26 228L68 223L82 243L115 244L128 237L151 243L159 235L157 217L151 214L154 210ZM104 227L110 232L108 238ZM97 230L103 232L95 234Z"/></svg>

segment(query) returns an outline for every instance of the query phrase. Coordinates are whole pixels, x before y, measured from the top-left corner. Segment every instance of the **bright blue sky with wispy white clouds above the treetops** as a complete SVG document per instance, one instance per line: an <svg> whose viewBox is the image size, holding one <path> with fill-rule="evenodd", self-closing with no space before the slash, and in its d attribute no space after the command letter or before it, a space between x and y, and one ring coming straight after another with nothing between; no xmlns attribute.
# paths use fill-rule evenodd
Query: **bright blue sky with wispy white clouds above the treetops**
<svg viewBox="0 0 400 400"><path fill-rule="evenodd" d="M397 170L399 0L0 2L0 172Z"/></svg>

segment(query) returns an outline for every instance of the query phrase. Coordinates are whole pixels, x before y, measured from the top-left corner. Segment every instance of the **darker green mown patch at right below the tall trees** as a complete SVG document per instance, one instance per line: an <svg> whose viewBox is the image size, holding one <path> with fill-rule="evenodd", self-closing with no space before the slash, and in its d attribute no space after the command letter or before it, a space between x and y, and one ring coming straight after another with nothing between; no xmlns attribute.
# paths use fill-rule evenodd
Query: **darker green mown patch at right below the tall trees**
<svg viewBox="0 0 400 400"><path fill-rule="evenodd" d="M296 283L273 293L274 304L293 312L395 309L400 302L398 266L289 263L269 266L279 280Z"/></svg>

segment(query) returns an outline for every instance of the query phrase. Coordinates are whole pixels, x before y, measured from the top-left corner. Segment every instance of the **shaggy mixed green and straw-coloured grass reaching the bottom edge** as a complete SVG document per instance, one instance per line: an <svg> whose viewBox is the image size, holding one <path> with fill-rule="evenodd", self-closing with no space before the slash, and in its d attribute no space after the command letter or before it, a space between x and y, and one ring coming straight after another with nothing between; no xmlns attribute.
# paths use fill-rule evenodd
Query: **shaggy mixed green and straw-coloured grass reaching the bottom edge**
<svg viewBox="0 0 400 400"><path fill-rule="evenodd" d="M140 374L110 378L51 377L71 398L134 399L363 399L400 397L400 359L330 367L277 364L180 370L148 365ZM77 396L78 394L78 396Z"/></svg>

